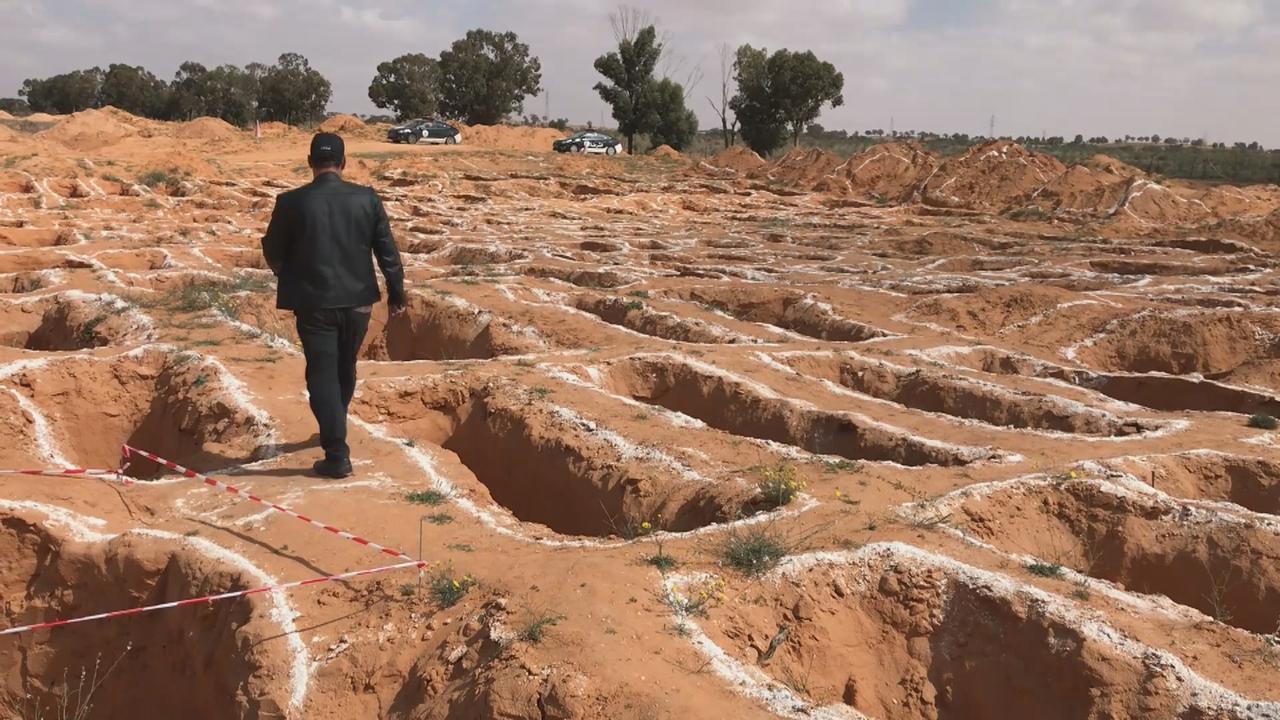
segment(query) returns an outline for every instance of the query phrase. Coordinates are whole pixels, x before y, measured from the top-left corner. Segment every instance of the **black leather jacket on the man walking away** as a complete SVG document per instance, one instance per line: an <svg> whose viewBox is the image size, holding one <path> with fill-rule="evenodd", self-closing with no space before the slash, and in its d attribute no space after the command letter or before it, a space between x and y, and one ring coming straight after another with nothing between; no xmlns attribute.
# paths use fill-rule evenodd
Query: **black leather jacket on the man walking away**
<svg viewBox="0 0 1280 720"><path fill-rule="evenodd" d="M371 256L387 278L387 296L404 304L404 268L387 210L372 188L324 173L275 199L262 256L280 279L276 307L361 307L381 299Z"/></svg>

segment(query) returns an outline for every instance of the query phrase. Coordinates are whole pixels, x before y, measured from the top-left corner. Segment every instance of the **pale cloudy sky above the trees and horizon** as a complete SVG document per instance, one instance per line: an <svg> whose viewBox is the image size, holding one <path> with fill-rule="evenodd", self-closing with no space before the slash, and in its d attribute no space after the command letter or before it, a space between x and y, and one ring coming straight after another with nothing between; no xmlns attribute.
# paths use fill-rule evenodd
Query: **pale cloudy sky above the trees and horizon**
<svg viewBox="0 0 1280 720"><path fill-rule="evenodd" d="M845 76L827 128L986 135L1151 135L1280 147L1280 0L635 0L668 33L690 106L718 120L719 47L813 50ZM436 55L467 29L511 29L541 59L526 113L608 110L593 60L613 35L602 0L0 0L0 96L23 78L110 63L172 78L183 60L302 53L330 110L372 113L379 61Z"/></svg>

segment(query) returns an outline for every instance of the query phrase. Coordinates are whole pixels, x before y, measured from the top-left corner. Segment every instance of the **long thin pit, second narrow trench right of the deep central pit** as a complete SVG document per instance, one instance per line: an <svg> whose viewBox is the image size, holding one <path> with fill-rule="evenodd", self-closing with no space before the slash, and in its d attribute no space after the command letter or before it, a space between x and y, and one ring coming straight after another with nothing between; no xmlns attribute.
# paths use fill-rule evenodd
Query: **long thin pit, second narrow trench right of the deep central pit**
<svg viewBox="0 0 1280 720"><path fill-rule="evenodd" d="M780 359L801 374L879 400L991 425L1100 437L1128 437L1155 429L1151 421L1116 418L1059 397L850 354L787 354Z"/></svg>

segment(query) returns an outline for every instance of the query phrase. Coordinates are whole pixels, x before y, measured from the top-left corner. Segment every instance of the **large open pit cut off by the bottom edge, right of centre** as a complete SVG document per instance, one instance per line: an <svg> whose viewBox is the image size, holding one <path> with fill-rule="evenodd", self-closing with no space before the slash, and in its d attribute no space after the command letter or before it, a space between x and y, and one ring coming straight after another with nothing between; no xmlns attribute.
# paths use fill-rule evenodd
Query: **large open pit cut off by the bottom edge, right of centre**
<svg viewBox="0 0 1280 720"><path fill-rule="evenodd" d="M1070 607L908 546L787 562L774 578L714 611L713 634L814 716L1257 717L1244 702L1212 706L1185 671L1153 673Z"/></svg>

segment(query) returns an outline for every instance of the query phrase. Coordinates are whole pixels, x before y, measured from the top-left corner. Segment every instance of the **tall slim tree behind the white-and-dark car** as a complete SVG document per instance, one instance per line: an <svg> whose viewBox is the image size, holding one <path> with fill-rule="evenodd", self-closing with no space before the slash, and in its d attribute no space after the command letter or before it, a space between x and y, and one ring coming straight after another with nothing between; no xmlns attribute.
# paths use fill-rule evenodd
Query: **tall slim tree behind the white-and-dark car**
<svg viewBox="0 0 1280 720"><path fill-rule="evenodd" d="M662 58L662 42L654 26L645 26L634 33L623 32L625 20L620 20L623 9L614 18L614 32L618 35L618 49L595 59L595 72L609 82L595 83L600 99L613 108L613 119L618 122L618 132L627 138L627 152L635 149L635 136L650 132L658 124L653 73ZM622 26L623 29L620 29ZM684 101L681 101L684 105Z"/></svg>

